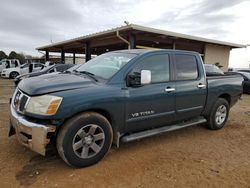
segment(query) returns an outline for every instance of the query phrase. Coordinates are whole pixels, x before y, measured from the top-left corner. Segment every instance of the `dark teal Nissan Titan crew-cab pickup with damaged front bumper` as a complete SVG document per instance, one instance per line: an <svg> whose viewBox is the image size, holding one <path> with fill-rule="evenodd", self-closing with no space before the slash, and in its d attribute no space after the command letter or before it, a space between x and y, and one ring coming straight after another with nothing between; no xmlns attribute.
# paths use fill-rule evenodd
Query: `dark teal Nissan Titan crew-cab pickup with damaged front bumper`
<svg viewBox="0 0 250 188"><path fill-rule="evenodd" d="M9 136L16 133L42 155L55 143L67 164L86 167L112 143L119 147L197 124L221 129L241 97L242 81L237 75L206 77L196 52L109 52L73 73L22 80L11 100Z"/></svg>

